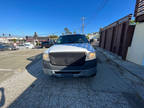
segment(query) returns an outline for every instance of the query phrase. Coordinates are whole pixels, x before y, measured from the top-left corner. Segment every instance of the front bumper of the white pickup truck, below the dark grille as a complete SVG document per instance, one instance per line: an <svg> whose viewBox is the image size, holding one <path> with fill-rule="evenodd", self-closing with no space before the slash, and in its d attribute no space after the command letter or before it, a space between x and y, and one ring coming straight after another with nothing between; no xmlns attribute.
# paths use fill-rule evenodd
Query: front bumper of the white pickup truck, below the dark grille
<svg viewBox="0 0 144 108"><path fill-rule="evenodd" d="M96 74L97 60L86 61L82 66L55 66L49 61L43 61L43 71L49 76L57 77L81 77Z"/></svg>

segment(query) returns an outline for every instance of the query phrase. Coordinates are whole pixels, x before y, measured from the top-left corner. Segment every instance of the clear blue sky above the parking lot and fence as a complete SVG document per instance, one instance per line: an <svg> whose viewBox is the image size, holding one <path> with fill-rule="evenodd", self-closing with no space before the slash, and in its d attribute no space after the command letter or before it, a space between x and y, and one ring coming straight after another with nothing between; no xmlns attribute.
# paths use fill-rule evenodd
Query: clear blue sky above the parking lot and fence
<svg viewBox="0 0 144 108"><path fill-rule="evenodd" d="M60 34L65 27L85 33L97 32L134 13L136 0L0 0L0 35Z"/></svg>

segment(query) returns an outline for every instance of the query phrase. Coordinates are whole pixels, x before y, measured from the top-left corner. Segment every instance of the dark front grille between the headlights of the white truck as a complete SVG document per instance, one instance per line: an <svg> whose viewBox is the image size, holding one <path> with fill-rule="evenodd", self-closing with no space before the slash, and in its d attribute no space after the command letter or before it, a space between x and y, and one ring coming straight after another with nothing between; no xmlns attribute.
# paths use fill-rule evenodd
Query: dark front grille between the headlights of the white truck
<svg viewBox="0 0 144 108"><path fill-rule="evenodd" d="M85 63L86 55L81 52L50 53L50 62L57 66L81 66Z"/></svg>

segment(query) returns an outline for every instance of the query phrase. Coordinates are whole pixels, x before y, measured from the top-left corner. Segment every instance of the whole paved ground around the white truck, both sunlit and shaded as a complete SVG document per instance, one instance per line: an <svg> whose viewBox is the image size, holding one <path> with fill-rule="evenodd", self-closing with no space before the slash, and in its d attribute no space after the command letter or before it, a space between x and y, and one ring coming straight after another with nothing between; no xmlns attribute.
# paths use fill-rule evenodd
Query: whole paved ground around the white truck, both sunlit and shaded
<svg viewBox="0 0 144 108"><path fill-rule="evenodd" d="M43 74L42 52L0 53L0 107L143 108L125 71L100 53L95 77L53 78Z"/></svg>

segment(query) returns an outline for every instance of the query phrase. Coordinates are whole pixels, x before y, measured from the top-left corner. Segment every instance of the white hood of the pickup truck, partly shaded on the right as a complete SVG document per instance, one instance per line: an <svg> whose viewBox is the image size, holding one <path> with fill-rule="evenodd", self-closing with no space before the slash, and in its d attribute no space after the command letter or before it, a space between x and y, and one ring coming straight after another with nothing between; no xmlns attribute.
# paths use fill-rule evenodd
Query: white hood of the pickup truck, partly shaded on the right
<svg viewBox="0 0 144 108"><path fill-rule="evenodd" d="M94 48L89 43L77 44L57 44L50 47L45 53L53 52L95 52Z"/></svg>

